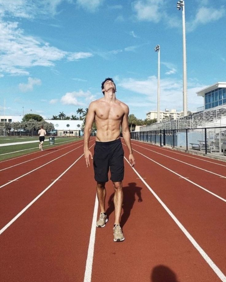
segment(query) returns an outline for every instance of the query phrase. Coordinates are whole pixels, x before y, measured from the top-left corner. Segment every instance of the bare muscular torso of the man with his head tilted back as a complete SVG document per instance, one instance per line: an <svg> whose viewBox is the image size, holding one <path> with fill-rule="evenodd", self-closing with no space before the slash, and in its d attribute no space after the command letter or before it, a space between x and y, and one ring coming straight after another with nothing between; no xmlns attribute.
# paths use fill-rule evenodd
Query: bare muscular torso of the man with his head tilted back
<svg viewBox="0 0 226 282"><path fill-rule="evenodd" d="M120 125L126 105L115 100L106 102L103 98L95 102L96 141L108 142L120 138Z"/></svg>

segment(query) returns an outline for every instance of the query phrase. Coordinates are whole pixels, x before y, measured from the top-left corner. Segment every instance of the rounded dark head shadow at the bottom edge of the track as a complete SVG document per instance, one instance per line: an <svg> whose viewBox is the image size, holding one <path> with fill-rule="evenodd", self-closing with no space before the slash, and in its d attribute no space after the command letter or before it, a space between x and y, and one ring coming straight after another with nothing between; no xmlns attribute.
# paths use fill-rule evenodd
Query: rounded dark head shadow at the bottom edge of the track
<svg viewBox="0 0 226 282"><path fill-rule="evenodd" d="M165 265L157 265L153 268L151 277L151 282L180 282L177 280L176 274Z"/></svg>

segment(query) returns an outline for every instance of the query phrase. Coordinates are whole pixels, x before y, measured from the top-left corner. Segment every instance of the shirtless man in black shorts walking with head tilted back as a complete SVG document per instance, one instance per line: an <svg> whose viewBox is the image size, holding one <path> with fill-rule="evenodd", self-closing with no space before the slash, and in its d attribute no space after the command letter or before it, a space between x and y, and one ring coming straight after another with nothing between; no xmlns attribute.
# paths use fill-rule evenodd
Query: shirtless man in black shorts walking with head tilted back
<svg viewBox="0 0 226 282"><path fill-rule="evenodd" d="M97 181L97 197L99 201L100 216L97 220L97 227L104 227L107 222L105 211L106 189L108 171L110 167L111 181L115 190L115 224L114 241L125 240L120 227L120 216L123 204L123 176L124 176L124 151L120 139L120 126L124 141L129 150L129 161L133 167L135 160L131 147L130 130L128 126L129 108L126 104L115 97L116 87L112 78L106 78L101 85L104 97L93 101L89 105L84 128L84 157L87 167L90 165L89 157L93 159L95 180ZM97 133L94 147L94 156L89 150L89 138L92 123L95 120Z"/></svg>

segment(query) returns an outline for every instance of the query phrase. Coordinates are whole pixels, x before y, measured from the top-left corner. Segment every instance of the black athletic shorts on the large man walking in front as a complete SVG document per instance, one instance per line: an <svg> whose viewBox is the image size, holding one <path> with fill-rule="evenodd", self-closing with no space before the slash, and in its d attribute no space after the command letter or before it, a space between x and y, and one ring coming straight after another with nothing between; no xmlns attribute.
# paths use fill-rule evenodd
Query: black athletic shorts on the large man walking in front
<svg viewBox="0 0 226 282"><path fill-rule="evenodd" d="M111 181L119 182L124 177L124 151L121 139L110 142L96 141L94 147L94 178L98 182L108 181L110 167Z"/></svg>

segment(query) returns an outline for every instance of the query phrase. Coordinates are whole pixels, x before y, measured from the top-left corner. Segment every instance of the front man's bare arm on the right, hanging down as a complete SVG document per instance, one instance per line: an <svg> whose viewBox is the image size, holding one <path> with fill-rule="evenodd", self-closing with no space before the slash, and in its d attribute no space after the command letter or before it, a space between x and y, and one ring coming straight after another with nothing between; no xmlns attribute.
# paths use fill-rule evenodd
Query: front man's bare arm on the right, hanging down
<svg viewBox="0 0 226 282"><path fill-rule="evenodd" d="M127 145L127 148L129 150L129 162L130 165L133 167L135 165L135 159L133 156L133 150L131 146L131 140L130 140L130 129L128 124L128 115L129 115L129 108L126 106L125 113L122 119L122 132L123 132L123 138Z"/></svg>

